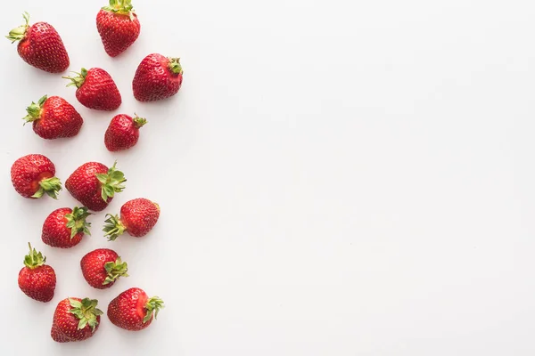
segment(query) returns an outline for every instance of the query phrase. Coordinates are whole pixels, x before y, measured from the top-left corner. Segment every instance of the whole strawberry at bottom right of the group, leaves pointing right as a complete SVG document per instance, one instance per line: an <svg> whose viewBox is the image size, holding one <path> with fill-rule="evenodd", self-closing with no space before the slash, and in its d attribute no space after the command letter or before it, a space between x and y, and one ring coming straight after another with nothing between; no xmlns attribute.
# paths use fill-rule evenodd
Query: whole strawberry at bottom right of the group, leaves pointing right
<svg viewBox="0 0 535 356"><path fill-rule="evenodd" d="M111 322L127 330L141 330L158 317L163 301L158 296L149 298L143 289L130 288L108 305L108 318Z"/></svg>

